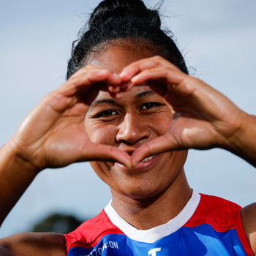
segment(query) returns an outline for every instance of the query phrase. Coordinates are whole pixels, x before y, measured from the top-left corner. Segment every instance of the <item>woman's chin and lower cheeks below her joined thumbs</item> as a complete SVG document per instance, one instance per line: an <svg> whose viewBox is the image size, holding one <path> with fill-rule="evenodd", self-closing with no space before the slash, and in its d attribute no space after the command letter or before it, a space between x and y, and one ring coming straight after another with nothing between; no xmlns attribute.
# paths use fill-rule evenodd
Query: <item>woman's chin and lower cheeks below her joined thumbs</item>
<svg viewBox="0 0 256 256"><path fill-rule="evenodd" d="M138 170L126 170L113 162L90 163L97 176L108 184L113 197L144 200L159 197L173 184L186 157L187 151L166 152Z"/></svg>

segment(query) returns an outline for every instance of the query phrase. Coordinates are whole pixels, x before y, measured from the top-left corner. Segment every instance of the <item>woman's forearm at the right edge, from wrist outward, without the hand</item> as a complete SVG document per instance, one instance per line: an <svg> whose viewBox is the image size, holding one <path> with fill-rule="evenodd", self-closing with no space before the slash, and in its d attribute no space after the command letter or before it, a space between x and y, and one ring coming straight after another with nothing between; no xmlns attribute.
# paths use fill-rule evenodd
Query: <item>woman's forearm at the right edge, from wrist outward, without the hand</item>
<svg viewBox="0 0 256 256"><path fill-rule="evenodd" d="M256 116L245 114L241 128L230 138L227 149L256 167Z"/></svg>

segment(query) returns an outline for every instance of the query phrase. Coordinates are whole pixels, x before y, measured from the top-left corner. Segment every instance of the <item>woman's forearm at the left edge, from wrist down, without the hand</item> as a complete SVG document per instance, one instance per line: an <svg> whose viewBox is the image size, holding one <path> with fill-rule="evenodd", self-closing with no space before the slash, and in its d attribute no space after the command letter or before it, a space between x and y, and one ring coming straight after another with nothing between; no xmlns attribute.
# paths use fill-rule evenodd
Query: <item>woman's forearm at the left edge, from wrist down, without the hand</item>
<svg viewBox="0 0 256 256"><path fill-rule="evenodd" d="M7 217L26 188L33 181L37 171L28 162L20 159L10 146L0 150L0 223Z"/></svg>

